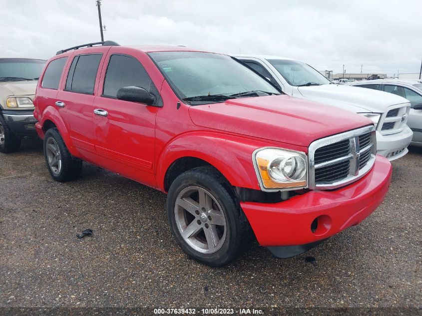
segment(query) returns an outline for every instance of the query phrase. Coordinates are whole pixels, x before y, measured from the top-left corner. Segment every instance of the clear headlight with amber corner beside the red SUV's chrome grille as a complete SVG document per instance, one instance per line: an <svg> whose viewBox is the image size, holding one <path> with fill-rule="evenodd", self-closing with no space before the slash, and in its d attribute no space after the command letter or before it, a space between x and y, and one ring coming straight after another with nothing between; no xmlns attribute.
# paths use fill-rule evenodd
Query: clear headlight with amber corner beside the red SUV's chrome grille
<svg viewBox="0 0 422 316"><path fill-rule="evenodd" d="M274 191L307 186L307 156L301 151L260 148L252 159L261 189Z"/></svg>

